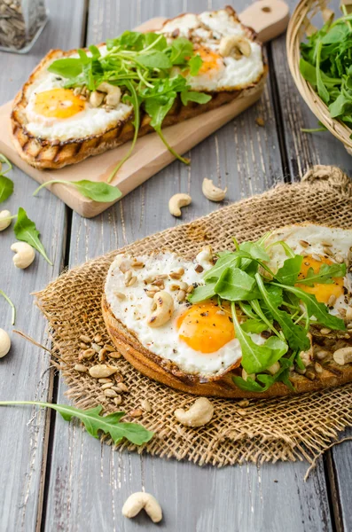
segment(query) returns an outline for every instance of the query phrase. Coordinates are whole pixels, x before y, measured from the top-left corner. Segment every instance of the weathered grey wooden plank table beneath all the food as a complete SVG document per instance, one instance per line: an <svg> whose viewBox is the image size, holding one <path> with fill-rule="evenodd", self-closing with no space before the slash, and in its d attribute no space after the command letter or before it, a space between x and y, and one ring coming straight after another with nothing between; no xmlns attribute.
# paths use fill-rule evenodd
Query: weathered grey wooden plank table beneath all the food
<svg viewBox="0 0 352 532"><path fill-rule="evenodd" d="M29 54L0 54L0 103L12 98L50 48L99 43L154 16L219 8L222 0L50 0L50 22ZM291 2L293 8L294 0ZM234 7L240 11L246 0ZM336 2L337 6L337 2ZM105 215L86 220L48 191L32 198L35 182L15 169L15 192L5 204L22 206L35 219L51 268L37 257L25 271L12 267L12 231L0 235L0 288L18 307L17 328L41 343L46 323L33 306L35 292L66 267L87 261L179 223L168 198L190 192L183 221L205 215L217 204L199 194L204 176L227 185L227 203L298 179L312 164L338 164L352 173L352 159L328 133L309 136L316 118L293 86L285 37L266 49L270 79L261 101L192 150L192 166L165 168ZM262 116L265 127L255 118ZM0 301L0 326L9 329L10 309ZM0 399L66 402L49 356L16 335L11 354L0 362ZM298 532L352 529L352 442L319 460L304 482L307 463L242 465L215 469L150 456L120 454L59 415L29 407L0 411L0 530L131 531L156 529L145 515L121 516L131 492L145 489L160 500L168 532ZM351 432L349 434L352 434Z"/></svg>

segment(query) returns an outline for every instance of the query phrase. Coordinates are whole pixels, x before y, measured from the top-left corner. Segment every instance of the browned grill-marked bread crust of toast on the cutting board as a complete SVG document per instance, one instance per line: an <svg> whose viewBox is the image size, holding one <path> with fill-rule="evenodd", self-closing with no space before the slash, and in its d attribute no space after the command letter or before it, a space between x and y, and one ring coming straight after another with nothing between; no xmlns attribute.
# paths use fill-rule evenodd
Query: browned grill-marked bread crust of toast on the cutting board
<svg viewBox="0 0 352 532"><path fill-rule="evenodd" d="M236 13L231 8L226 9L230 9L232 14L236 17ZM251 36L252 38L255 37L252 29L246 28L246 32L248 36ZM104 153L107 150L122 145L131 140L134 135L134 127L132 125L133 114L130 115L129 119L119 121L115 127L106 130L104 133L66 141L34 137L27 131L27 88L35 82L36 77L43 71L43 69L49 66L53 60L65 58L75 52L76 50L50 51L39 65L36 66L33 73L29 76L28 81L24 84L14 99L11 115L12 141L18 153L20 153L20 157L35 168L54 169L63 168L68 164L75 164L90 157L90 155L98 155L99 153ZM201 113L207 113L207 111L211 111L219 106L230 103L236 98L246 98L246 96L253 94L254 91L259 92L262 90L262 85L267 74L268 66L264 65L263 74L260 75L252 85L244 90L212 92L210 93L212 99L207 104L201 105L190 102L187 106L183 106L180 98L177 98L174 106L170 109L163 121L163 128L188 120ZM141 127L138 132L138 137L143 137L145 134L154 131L152 126L150 126L150 121L150 117L142 112Z"/></svg>

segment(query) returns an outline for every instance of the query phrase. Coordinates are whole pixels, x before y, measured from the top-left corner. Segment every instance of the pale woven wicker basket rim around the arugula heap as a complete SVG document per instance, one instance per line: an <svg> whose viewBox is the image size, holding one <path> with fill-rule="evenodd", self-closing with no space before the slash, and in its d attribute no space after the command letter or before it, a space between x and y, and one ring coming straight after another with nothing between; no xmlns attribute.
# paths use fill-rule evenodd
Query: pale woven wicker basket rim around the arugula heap
<svg viewBox="0 0 352 532"><path fill-rule="evenodd" d="M317 92L313 90L309 82L303 78L300 72L300 44L306 36L314 33L317 28L333 17L333 12L328 8L328 1L325 0L301 0L295 8L287 28L286 51L288 65L290 67L293 80L301 92L301 97L305 100L310 110L317 116L332 135L338 138L348 153L352 155L352 129L339 120L330 116L329 109ZM317 27L312 23L312 19L317 17ZM319 20L320 19L320 20Z"/></svg>

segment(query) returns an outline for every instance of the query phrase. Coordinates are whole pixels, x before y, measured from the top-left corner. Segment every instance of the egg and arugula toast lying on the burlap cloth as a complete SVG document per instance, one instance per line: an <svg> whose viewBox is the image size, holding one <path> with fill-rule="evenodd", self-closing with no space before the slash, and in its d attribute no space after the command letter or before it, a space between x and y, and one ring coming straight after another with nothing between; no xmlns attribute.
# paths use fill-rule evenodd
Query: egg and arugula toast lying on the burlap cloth
<svg viewBox="0 0 352 532"><path fill-rule="evenodd" d="M103 314L116 348L195 395L269 397L352 380L352 231L291 225L194 261L118 254Z"/></svg>

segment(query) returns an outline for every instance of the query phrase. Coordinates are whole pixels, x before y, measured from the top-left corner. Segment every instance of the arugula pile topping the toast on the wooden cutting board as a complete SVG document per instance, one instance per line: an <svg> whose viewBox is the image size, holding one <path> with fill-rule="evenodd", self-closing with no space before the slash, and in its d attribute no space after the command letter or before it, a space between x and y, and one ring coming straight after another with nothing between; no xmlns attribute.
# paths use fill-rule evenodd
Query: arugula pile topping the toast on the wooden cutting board
<svg viewBox="0 0 352 532"><path fill-rule="evenodd" d="M79 50L78 58L57 59L48 70L65 78L67 88L85 86L96 90L101 82L118 85L123 92L122 102L133 107L133 141L129 152L113 169L108 183L129 158L136 144L141 108L150 116L150 125L169 152L188 164L189 160L168 144L161 126L176 98L179 97L184 106L189 102L206 104L211 99L209 94L191 90L184 77L197 75L203 62L193 50L192 42L178 37L168 43L164 35L127 31L120 37L107 40L106 49L102 55L96 46L90 46L90 53Z"/></svg>

